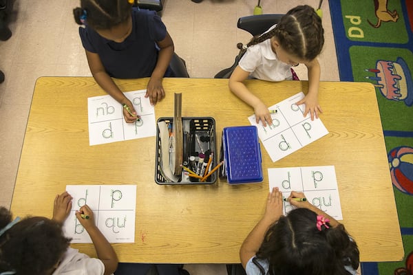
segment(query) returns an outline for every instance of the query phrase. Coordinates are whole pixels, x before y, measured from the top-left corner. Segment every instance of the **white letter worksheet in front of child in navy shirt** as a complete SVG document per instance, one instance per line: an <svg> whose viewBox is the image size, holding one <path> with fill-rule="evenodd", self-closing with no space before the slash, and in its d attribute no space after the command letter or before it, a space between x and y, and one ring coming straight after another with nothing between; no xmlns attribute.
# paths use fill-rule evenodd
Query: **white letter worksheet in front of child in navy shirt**
<svg viewBox="0 0 413 275"><path fill-rule="evenodd" d="M134 104L140 120L127 123L123 118L123 106L112 96L87 98L89 118L89 145L134 140L156 135L155 109L149 98L145 98L146 89L128 91L125 96Z"/></svg>

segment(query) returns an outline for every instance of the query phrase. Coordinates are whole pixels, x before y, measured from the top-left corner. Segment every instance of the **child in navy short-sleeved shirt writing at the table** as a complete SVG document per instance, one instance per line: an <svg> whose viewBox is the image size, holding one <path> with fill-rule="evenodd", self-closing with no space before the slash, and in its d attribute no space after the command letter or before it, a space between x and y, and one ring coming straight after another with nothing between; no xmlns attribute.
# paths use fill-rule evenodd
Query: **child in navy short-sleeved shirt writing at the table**
<svg viewBox="0 0 413 275"><path fill-rule="evenodd" d="M138 118L113 78L150 77L147 94L151 104L162 100L162 78L173 76L169 67L174 47L167 28L156 12L132 8L134 0L81 0L74 19L96 83L123 108L126 122Z"/></svg>

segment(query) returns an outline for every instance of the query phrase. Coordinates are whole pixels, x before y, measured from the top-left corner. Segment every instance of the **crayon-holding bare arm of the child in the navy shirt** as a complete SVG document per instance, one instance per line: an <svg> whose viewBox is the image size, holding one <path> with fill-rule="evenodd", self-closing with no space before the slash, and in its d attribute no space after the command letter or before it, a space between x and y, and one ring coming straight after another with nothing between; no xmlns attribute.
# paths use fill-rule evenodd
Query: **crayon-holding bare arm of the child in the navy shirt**
<svg viewBox="0 0 413 275"><path fill-rule="evenodd" d="M114 98L117 102L119 102L120 104L127 104L129 109L132 113L134 113L135 116L130 115L129 112L125 108L123 108L123 117L125 118L126 122L135 122L138 116L136 115L134 104L132 104L132 102L127 99L123 92L120 91L119 87L114 83L114 80L109 76L109 74L107 74L98 54L89 52L88 50L85 50L85 52L87 63L89 63L90 72L92 72L92 76L94 77L94 80L96 80L96 83L98 83L98 85L102 87L102 89L104 89L107 94L109 94L109 96L112 96L112 98Z"/></svg>

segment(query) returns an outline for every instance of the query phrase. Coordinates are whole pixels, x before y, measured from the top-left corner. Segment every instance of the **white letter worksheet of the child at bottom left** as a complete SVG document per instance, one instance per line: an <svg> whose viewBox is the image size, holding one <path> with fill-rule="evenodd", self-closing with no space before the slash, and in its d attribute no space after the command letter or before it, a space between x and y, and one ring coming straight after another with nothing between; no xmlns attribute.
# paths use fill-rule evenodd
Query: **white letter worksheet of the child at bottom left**
<svg viewBox="0 0 413 275"><path fill-rule="evenodd" d="M135 242L136 185L67 185L66 191L73 199L63 231L72 243L92 243L75 214L85 204L109 243Z"/></svg>

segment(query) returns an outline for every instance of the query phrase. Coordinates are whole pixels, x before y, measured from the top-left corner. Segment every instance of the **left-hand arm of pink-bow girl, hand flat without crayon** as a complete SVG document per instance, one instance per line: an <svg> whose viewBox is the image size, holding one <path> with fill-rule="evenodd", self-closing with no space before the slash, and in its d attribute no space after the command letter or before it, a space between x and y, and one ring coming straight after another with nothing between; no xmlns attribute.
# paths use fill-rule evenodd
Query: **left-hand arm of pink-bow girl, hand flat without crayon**
<svg viewBox="0 0 413 275"><path fill-rule="evenodd" d="M273 188L273 192L268 194L264 216L258 221L250 234L246 236L244 243L241 245L240 259L244 269L249 259L255 256L260 249L268 228L282 216L282 206L282 193L275 187Z"/></svg>

